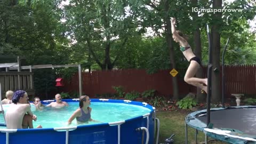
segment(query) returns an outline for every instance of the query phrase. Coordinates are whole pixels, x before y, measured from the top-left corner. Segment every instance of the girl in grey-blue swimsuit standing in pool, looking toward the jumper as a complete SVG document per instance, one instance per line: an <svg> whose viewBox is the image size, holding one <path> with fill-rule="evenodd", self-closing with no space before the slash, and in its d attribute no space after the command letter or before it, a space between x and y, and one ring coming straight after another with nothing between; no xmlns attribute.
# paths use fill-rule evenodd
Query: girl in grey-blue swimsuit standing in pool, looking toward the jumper
<svg viewBox="0 0 256 144"><path fill-rule="evenodd" d="M71 115L68 119L68 124L71 124L72 121L76 118L77 124L88 123L89 121L98 122L91 118L92 108L91 100L88 95L82 95L79 98L79 108Z"/></svg>

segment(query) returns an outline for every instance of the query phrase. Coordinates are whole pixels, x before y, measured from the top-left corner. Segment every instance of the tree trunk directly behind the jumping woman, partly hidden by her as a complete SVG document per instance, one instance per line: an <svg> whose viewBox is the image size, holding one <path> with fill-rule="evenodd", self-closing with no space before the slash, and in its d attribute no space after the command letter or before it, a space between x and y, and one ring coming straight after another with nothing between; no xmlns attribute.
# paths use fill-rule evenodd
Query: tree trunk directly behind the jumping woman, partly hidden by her
<svg viewBox="0 0 256 144"><path fill-rule="evenodd" d="M191 2L193 7L198 7L197 6L198 0L192 0ZM193 17L193 23L195 26L193 30L194 41L195 41L195 54L198 58L202 60L201 32L200 32L198 21L197 21L198 20L197 12L192 13L192 17ZM196 77L203 78L202 67L198 69L196 73ZM196 99L197 99L197 102L204 102L206 99L206 94L201 93L201 89L198 87L196 89Z"/></svg>

